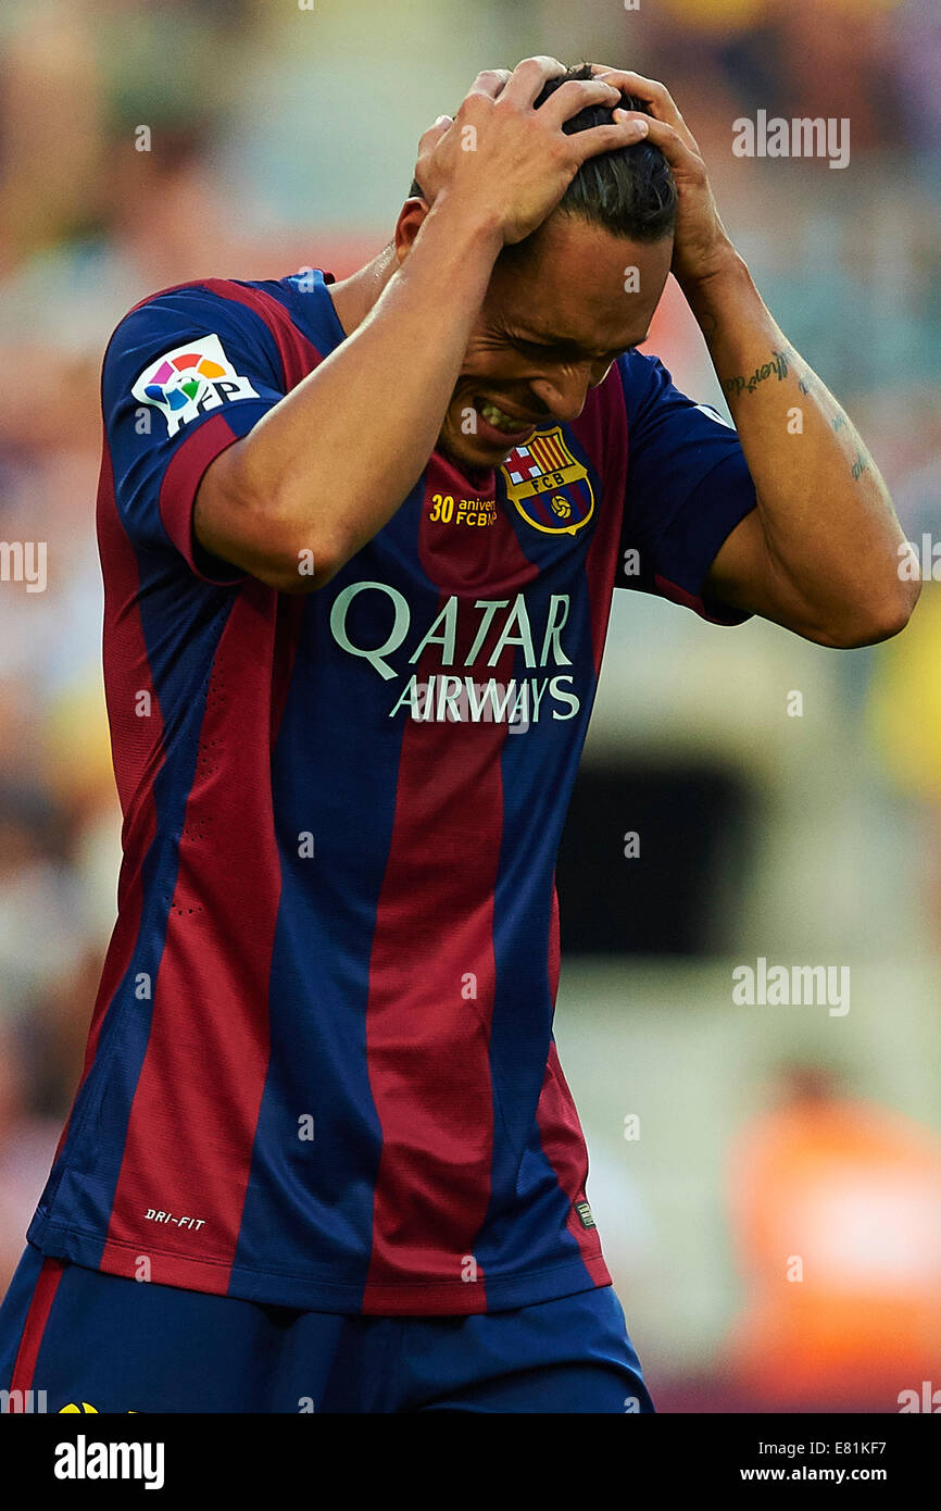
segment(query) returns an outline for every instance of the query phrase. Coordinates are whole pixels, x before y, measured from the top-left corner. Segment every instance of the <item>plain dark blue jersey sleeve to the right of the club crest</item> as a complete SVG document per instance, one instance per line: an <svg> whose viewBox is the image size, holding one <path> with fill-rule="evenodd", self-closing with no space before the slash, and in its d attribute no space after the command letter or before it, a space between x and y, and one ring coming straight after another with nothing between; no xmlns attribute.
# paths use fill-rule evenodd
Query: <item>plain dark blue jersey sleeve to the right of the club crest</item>
<svg viewBox="0 0 941 1511"><path fill-rule="evenodd" d="M628 352L618 369L628 453L616 585L743 624L749 613L705 598L722 542L757 503L739 435L680 393L659 358Z"/></svg>

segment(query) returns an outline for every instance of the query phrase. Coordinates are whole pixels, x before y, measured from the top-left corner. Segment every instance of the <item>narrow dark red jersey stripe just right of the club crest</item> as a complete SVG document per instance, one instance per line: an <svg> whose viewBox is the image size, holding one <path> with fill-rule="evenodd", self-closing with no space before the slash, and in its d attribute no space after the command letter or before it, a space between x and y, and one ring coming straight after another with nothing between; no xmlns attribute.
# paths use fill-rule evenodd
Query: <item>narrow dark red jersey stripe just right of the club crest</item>
<svg viewBox="0 0 941 1511"><path fill-rule="evenodd" d="M627 411L624 391L616 367L612 367L604 382L595 390L597 403L586 405L582 417L572 426L589 461L597 465L603 458L604 508L592 542L585 558L585 576L589 591L589 616L592 627L592 656L595 677L601 674L604 636L612 607L612 594L621 567L618 545L624 521L624 497L627 494ZM600 500L598 500L600 502Z"/></svg>

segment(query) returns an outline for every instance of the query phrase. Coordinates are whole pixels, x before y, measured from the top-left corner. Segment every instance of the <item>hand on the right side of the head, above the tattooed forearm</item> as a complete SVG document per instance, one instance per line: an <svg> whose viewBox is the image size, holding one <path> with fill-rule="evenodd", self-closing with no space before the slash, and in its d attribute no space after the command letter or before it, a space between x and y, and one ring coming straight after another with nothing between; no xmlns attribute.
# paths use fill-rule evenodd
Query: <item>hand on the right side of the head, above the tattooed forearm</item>
<svg viewBox="0 0 941 1511"><path fill-rule="evenodd" d="M672 272L681 287L722 272L736 257L710 189L705 163L669 91L630 70L592 63L592 73L649 106L651 113L615 110L615 119L645 121L648 141L666 157L677 183L677 237Z"/></svg>

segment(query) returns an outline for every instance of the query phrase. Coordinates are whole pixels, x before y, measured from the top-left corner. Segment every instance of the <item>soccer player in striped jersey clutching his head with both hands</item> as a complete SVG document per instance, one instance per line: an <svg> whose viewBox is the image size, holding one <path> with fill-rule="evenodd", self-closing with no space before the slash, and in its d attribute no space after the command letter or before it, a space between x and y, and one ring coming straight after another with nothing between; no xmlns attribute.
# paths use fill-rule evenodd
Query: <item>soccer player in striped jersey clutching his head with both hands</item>
<svg viewBox="0 0 941 1511"><path fill-rule="evenodd" d="M671 267L737 429L637 351ZM103 402L119 914L0 1386L653 1410L553 1041L612 589L891 636L875 462L666 89L548 57L424 133L372 263L156 295Z"/></svg>

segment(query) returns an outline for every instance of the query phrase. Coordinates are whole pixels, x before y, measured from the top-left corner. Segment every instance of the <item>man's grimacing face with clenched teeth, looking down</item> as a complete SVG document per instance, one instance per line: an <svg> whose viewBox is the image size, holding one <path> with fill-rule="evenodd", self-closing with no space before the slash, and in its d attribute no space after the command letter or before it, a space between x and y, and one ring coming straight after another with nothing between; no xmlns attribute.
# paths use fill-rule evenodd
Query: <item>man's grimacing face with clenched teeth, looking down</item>
<svg viewBox="0 0 941 1511"><path fill-rule="evenodd" d="M535 429L574 420L612 363L646 338L671 255L672 237L630 242L562 213L504 251L438 449L470 470L498 467Z"/></svg>

